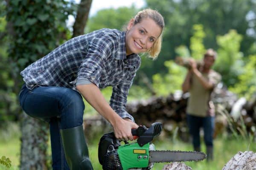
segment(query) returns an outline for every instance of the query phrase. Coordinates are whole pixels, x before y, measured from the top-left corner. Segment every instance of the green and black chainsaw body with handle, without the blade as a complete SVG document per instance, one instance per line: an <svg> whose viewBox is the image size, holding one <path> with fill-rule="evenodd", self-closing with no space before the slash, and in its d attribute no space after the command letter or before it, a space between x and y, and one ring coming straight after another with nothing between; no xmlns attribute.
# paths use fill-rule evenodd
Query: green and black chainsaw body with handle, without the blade
<svg viewBox="0 0 256 170"><path fill-rule="evenodd" d="M137 136L137 142L120 144L113 132L107 133L100 139L98 158L103 170L128 170L141 168L150 170L149 150L154 150L152 139L160 135L161 123L153 123L151 127L140 126L132 129L132 135Z"/></svg>

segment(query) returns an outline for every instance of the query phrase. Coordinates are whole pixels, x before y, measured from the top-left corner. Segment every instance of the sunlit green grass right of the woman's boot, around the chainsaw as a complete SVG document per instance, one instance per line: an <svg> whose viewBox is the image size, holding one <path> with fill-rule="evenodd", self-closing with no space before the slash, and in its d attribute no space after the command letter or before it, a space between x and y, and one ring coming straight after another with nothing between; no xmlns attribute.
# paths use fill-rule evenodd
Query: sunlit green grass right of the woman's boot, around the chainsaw
<svg viewBox="0 0 256 170"><path fill-rule="evenodd" d="M156 147L156 150L192 150L192 145L180 141L172 142L171 138L166 139L165 141L154 140L153 143ZM256 143L250 143L244 139L228 139L225 137L219 137L214 140L214 161L207 162L198 161L198 162L184 162L186 165L192 167L193 170L221 170L236 153L239 151L253 151L256 152ZM90 158L93 162L94 170L102 170L102 167L98 163L97 157L97 144L89 146ZM205 153L206 148L202 144L202 151ZM153 170L161 170L163 166L167 163L155 163Z"/></svg>

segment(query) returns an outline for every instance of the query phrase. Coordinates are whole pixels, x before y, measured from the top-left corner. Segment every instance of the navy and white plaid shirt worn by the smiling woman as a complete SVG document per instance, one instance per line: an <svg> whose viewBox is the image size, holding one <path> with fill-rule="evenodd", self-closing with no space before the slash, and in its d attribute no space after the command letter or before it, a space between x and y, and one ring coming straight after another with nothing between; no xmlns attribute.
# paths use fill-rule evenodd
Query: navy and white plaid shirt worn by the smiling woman
<svg viewBox="0 0 256 170"><path fill-rule="evenodd" d="M104 28L68 40L20 74L29 89L37 85L74 89L76 79L83 78L99 88L113 86L111 108L134 121L125 107L140 62L137 54L126 57L125 32Z"/></svg>

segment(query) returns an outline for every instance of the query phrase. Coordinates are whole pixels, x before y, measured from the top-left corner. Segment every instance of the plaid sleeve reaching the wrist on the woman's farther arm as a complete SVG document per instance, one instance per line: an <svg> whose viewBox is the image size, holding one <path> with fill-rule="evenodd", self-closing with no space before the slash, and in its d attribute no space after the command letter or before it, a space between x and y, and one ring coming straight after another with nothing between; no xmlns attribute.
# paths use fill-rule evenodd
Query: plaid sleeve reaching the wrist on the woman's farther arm
<svg viewBox="0 0 256 170"><path fill-rule="evenodd" d="M119 85L113 86L112 96L110 99L110 106L116 113L122 118L129 118L134 122L133 116L131 116L126 110L126 102L129 89L131 88L133 79L136 73L129 79L125 80Z"/></svg>

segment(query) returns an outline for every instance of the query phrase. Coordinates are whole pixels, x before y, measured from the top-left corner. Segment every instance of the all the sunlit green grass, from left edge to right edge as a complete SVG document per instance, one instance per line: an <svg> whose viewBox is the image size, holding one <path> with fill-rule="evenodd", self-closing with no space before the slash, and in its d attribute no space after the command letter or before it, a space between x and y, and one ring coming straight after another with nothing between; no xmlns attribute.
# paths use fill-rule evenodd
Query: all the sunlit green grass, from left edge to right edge
<svg viewBox="0 0 256 170"><path fill-rule="evenodd" d="M12 130L17 131L11 132ZM6 134L4 134L3 131ZM11 125L11 130L9 131L0 131L0 135L0 157L4 155L12 161L11 168L8 169L3 165L0 165L0 170L18 170L20 158L20 134L17 125ZM7 137L3 138L3 136ZM96 136L88 143L90 159L93 163L94 170L102 170L98 161L99 138L100 136ZM154 139L153 143L157 150L192 150L191 144L178 141L177 139L173 140L171 137L164 139L164 141ZM214 161L207 162L204 160L198 162L185 162L185 164L192 167L194 170L221 170L224 164L226 164L239 151L244 152L250 150L256 152L256 142L251 143L250 140L244 139L242 136L240 138L219 136L214 140L214 146ZM205 150L206 149L202 142L202 151L205 152ZM153 170L161 170L165 164L167 163L155 163Z"/></svg>

